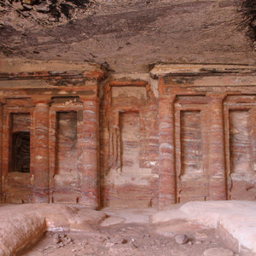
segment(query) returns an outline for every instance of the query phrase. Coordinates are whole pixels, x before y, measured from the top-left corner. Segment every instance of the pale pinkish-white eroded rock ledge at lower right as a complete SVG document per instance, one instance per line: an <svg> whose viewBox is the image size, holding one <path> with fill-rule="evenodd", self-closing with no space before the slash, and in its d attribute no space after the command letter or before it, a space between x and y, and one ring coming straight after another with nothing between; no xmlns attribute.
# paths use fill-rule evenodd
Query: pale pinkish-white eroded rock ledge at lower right
<svg viewBox="0 0 256 256"><path fill-rule="evenodd" d="M183 216L190 222L197 222L217 229L225 244L229 244L233 249L242 251L242 247L245 247L255 254L255 207L253 201L188 202L178 210L170 208L166 211L156 212L152 216L152 222L160 224L172 221L173 223L179 216ZM159 231L168 232L173 231L174 228L173 225L165 224L165 228L160 228ZM183 226L183 230L186 230L185 226ZM195 233L195 237L201 241L207 236ZM238 242L240 246L238 246Z"/></svg>

